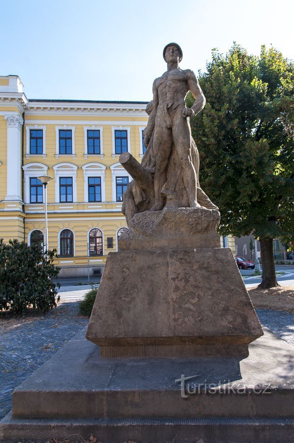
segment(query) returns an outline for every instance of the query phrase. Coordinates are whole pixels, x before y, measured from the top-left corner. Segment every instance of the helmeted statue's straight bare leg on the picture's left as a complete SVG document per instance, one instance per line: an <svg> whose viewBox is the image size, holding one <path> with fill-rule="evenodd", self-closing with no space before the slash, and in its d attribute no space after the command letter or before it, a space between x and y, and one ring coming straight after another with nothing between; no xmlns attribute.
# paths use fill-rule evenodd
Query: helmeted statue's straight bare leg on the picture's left
<svg viewBox="0 0 294 443"><path fill-rule="evenodd" d="M155 204L150 211L160 211L165 205L165 196L161 193L161 190L166 182L166 168L172 144L172 130L165 126L164 121L156 124L153 135Z"/></svg>

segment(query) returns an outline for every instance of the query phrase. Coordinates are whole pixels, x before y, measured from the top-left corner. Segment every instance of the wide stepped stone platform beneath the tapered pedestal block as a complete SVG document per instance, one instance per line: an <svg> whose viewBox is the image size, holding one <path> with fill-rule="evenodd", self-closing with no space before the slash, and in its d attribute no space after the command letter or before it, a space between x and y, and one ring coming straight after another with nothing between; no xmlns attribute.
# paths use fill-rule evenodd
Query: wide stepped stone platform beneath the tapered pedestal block
<svg viewBox="0 0 294 443"><path fill-rule="evenodd" d="M291 442L293 347L265 328L249 348L241 361L103 359L81 332L15 390L0 439L86 440L93 433L106 442L172 442L176 435L185 442ZM186 383L202 384L200 392L189 394L186 384L182 398L181 374L198 375ZM227 391L209 394L205 383Z"/></svg>

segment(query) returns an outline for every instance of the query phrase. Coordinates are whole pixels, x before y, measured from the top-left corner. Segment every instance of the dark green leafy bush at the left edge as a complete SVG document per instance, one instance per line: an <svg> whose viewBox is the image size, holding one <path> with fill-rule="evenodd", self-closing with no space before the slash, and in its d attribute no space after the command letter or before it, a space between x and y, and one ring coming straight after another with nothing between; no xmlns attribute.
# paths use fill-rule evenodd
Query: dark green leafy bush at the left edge
<svg viewBox="0 0 294 443"><path fill-rule="evenodd" d="M37 245L0 239L0 310L24 314L29 307L49 311L59 296L52 282L59 274L53 264L56 250L42 255Z"/></svg>

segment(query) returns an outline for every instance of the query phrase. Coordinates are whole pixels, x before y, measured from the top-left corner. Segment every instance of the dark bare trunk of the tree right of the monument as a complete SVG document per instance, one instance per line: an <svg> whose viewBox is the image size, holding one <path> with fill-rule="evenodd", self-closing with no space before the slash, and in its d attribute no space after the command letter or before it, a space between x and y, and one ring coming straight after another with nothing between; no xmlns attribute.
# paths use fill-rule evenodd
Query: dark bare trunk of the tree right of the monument
<svg viewBox="0 0 294 443"><path fill-rule="evenodd" d="M262 237L259 239L261 258L263 266L262 283L257 287L266 289L268 287L280 286L276 279L275 263L273 257L273 239Z"/></svg>

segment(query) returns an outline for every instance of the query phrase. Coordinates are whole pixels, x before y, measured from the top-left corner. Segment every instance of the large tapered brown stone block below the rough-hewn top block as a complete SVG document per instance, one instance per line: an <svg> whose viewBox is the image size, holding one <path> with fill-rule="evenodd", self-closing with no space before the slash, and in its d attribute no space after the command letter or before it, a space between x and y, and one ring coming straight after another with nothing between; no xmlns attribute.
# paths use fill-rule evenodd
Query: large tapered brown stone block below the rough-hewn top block
<svg viewBox="0 0 294 443"><path fill-rule="evenodd" d="M151 352L158 346L192 356L209 354L210 346L217 354L219 345L230 354L231 345L262 334L232 251L215 248L110 253L87 338L103 356L167 356Z"/></svg>

